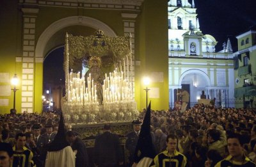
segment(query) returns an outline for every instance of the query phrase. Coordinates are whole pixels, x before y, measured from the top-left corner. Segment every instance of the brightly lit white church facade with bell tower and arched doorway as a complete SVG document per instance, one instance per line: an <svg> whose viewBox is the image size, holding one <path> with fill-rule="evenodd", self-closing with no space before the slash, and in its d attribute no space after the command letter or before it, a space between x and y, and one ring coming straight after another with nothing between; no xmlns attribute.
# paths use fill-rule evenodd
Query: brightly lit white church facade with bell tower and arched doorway
<svg viewBox="0 0 256 167"><path fill-rule="evenodd" d="M169 103L172 108L179 89L190 94L190 106L200 99L216 99L216 106L234 106L234 61L229 39L223 50L210 34L202 34L194 1L168 2Z"/></svg>

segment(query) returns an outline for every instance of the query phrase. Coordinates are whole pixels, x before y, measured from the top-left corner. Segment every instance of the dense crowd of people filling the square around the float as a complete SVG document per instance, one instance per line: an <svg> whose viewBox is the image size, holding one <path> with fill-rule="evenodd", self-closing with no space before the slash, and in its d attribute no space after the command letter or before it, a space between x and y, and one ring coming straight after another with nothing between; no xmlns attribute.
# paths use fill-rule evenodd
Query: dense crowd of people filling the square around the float
<svg viewBox="0 0 256 167"><path fill-rule="evenodd" d="M79 134L67 131L62 138L76 155L74 166L136 166L139 162L134 160L134 151L144 115L145 111L138 120L132 121L133 130L125 136L127 162L120 139L111 132L110 124L105 124L104 133L95 138L93 159L88 159ZM156 156L151 165L255 166L255 117L253 109L214 108L203 104L184 112L152 111L151 136ZM1 115L0 166L8 157L9 166L46 166L51 143L60 133L59 122L60 113L53 112ZM60 143L60 140L61 137L55 141Z"/></svg>

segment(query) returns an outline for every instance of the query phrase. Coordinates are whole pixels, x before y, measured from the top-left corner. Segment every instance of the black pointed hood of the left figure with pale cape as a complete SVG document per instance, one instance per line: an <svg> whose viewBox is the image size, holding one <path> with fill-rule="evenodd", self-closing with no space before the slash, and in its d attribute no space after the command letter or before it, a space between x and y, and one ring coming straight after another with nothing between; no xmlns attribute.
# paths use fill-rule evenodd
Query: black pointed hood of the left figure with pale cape
<svg viewBox="0 0 256 167"><path fill-rule="evenodd" d="M66 129L63 120L63 113L60 115L59 129L54 140L47 145L47 151L54 152L59 151L70 145L65 137Z"/></svg>

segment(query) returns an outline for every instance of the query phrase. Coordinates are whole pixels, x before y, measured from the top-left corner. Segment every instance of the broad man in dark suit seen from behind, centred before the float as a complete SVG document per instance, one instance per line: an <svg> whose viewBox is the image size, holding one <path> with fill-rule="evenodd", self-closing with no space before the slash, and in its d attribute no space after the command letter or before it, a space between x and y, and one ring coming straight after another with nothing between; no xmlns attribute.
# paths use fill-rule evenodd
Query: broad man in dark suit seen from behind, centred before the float
<svg viewBox="0 0 256 167"><path fill-rule="evenodd" d="M94 164L98 167L116 167L123 163L119 137L111 133L110 124L105 124L104 133L95 139Z"/></svg>

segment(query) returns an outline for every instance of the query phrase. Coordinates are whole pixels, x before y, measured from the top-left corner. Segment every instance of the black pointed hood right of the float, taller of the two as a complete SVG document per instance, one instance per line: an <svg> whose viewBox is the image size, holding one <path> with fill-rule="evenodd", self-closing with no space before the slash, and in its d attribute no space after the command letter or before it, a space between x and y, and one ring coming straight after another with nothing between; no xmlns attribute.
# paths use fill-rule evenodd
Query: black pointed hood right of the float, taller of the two
<svg viewBox="0 0 256 167"><path fill-rule="evenodd" d="M148 105L147 112L145 114L143 124L141 126L138 143L136 145L136 149L134 152L134 160L136 163L138 163L144 157L154 159L154 157L156 156L156 150L152 143L152 136L150 132L150 110L151 101Z"/></svg>

